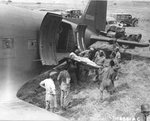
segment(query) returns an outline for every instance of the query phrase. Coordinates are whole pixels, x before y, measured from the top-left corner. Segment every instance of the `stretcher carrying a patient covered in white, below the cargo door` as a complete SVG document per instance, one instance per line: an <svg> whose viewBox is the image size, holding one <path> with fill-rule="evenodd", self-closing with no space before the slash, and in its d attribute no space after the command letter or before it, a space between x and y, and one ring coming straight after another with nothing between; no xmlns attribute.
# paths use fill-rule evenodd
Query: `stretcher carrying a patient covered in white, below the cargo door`
<svg viewBox="0 0 150 121"><path fill-rule="evenodd" d="M83 64L89 65L91 67L97 68L99 69L100 66L98 66L95 62L91 61L90 59L86 58L86 57L80 57L77 56L75 53L71 52L69 57L75 61L81 62Z"/></svg>

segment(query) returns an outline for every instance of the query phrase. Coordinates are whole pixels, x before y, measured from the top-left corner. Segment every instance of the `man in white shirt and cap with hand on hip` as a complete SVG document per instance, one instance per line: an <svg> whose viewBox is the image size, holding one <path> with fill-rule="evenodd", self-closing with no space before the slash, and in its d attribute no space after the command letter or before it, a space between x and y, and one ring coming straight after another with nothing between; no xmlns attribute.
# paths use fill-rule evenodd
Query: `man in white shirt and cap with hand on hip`
<svg viewBox="0 0 150 121"><path fill-rule="evenodd" d="M40 82L40 86L46 89L45 95L45 109L51 112L54 112L54 109L57 108L57 101L56 101L56 90L55 84L52 79L52 76L57 72L51 72L47 79Z"/></svg>

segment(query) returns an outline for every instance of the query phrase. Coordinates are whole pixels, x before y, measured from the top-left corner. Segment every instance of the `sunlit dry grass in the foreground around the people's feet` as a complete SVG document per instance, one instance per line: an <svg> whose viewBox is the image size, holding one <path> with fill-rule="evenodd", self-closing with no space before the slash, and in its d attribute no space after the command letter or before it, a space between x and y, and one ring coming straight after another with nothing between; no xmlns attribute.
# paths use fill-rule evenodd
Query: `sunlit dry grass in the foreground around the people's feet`
<svg viewBox="0 0 150 121"><path fill-rule="evenodd" d="M119 79L115 82L114 95L109 97L105 93L104 101L100 102L98 84L91 81L84 82L77 94L72 92L72 107L61 112L60 115L72 121L98 121L99 119L111 121L112 117L133 117L140 110L142 103L150 102L150 63L132 60L126 61L121 66ZM25 101L44 108L45 93L35 86L36 84L34 81L32 89L27 88L26 85L23 88L23 92L26 92L23 97Z"/></svg>

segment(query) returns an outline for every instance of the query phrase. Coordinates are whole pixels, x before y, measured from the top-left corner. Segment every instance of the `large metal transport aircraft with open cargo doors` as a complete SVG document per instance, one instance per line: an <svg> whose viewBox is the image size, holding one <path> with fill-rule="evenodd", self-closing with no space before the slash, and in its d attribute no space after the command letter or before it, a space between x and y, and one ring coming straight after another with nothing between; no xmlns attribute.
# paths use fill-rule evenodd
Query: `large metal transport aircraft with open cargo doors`
<svg viewBox="0 0 150 121"><path fill-rule="evenodd" d="M90 0L78 20L0 5L0 120L67 120L19 100L17 91L44 65L57 65L75 47L85 50L93 41L112 41L99 35L105 30L106 13L105 0Z"/></svg>

